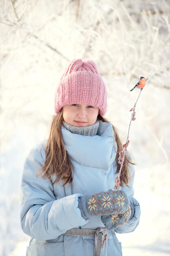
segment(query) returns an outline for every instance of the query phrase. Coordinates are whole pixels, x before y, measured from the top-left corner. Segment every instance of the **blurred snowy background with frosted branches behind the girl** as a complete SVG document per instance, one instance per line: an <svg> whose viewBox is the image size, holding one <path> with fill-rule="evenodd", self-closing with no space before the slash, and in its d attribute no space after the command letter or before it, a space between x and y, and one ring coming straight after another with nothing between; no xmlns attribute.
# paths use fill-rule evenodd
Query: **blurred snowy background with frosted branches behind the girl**
<svg viewBox="0 0 170 256"><path fill-rule="evenodd" d="M24 256L20 227L24 160L46 139L57 84L74 58L95 61L108 118L126 142L130 89L170 63L170 0L0 1L0 256ZM119 234L124 256L170 254L170 64L141 93L128 149L136 163L141 222Z"/></svg>

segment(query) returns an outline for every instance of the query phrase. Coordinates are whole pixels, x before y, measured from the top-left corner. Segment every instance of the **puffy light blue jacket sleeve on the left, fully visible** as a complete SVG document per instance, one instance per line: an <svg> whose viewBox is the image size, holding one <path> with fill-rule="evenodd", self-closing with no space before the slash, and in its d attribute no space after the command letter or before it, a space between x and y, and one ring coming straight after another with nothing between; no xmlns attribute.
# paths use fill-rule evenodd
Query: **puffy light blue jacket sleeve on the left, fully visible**
<svg viewBox="0 0 170 256"><path fill-rule="evenodd" d="M53 183L41 174L36 176L43 163L42 153L33 148L24 163L20 211L22 230L40 241L57 238L88 222L78 208L80 194L56 199Z"/></svg>

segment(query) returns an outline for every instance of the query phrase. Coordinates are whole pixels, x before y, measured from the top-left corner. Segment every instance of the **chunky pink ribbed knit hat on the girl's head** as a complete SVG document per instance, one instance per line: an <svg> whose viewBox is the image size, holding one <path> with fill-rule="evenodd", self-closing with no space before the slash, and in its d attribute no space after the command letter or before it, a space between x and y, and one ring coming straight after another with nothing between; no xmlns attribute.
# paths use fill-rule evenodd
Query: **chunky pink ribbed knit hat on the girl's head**
<svg viewBox="0 0 170 256"><path fill-rule="evenodd" d="M55 94L55 113L67 104L89 104L106 113L106 87L91 60L75 59L68 65Z"/></svg>

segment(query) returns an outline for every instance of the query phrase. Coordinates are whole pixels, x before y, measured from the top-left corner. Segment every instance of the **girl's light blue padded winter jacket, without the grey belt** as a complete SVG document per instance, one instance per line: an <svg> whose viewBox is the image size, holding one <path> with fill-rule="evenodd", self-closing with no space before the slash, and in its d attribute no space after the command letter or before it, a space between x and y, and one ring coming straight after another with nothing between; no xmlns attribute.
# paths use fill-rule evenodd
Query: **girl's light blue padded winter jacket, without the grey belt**
<svg viewBox="0 0 170 256"><path fill-rule="evenodd" d="M33 148L26 158L22 177L21 225L31 236L26 256L93 256L94 235L63 235L68 229L97 229L104 227L101 216L82 218L78 208L79 195L91 195L113 189L116 168L116 143L113 144L113 128L100 121L97 135L73 134L62 126L62 136L68 154L75 167L73 183L62 186L49 179L36 176L45 160L46 141ZM133 196L134 168L130 166L128 186L120 187ZM55 177L54 177L55 179ZM115 231L108 232L108 241L102 256L121 256L121 243L115 232L128 233L139 224L140 206L135 216Z"/></svg>

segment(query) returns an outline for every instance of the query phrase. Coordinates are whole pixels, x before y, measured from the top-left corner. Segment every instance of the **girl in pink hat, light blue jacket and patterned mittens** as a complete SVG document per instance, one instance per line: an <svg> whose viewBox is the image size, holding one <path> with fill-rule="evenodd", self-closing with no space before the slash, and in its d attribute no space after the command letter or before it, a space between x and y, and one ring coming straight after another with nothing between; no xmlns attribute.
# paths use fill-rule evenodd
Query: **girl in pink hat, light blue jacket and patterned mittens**
<svg viewBox="0 0 170 256"><path fill-rule="evenodd" d="M134 168L127 154L120 186L121 141L106 113L106 87L93 61L73 60L55 95L49 139L26 158L21 225L26 256L121 256L115 232L139 224Z"/></svg>

